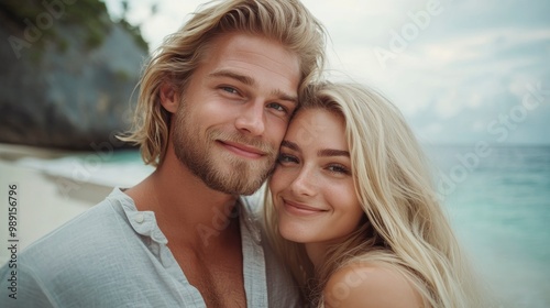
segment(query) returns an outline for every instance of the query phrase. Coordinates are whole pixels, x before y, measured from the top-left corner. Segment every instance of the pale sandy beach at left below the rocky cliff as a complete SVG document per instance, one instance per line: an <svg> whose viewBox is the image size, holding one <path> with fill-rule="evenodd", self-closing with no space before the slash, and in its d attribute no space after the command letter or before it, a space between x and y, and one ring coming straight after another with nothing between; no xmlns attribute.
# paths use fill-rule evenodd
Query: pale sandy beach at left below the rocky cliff
<svg viewBox="0 0 550 308"><path fill-rule="evenodd" d="M70 153L29 146L0 144L0 241L4 246L18 244L18 251L62 226L69 219L102 200L112 186L85 183L53 175L47 170L25 166L23 158L55 160ZM16 185L16 213L10 215L10 185ZM12 186L13 188L13 186ZM13 193L12 193L13 194ZM8 226L9 216L15 216L13 238ZM13 223L12 223L13 224ZM9 240L19 240L9 242ZM0 250L0 264L10 257L7 249Z"/></svg>

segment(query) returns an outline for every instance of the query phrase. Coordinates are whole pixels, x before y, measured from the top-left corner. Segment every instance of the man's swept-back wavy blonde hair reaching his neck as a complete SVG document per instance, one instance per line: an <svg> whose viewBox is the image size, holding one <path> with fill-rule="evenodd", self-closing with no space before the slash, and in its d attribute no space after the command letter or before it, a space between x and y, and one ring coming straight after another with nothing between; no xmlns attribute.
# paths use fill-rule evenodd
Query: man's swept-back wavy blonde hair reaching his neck
<svg viewBox="0 0 550 308"><path fill-rule="evenodd" d="M168 143L169 113L158 101L163 84L179 94L212 42L227 33L242 32L274 40L300 61L301 85L317 79L324 65L326 31L299 0L216 0L194 13L152 55L145 66L134 113L134 125L120 139L141 146L145 164L162 163Z"/></svg>

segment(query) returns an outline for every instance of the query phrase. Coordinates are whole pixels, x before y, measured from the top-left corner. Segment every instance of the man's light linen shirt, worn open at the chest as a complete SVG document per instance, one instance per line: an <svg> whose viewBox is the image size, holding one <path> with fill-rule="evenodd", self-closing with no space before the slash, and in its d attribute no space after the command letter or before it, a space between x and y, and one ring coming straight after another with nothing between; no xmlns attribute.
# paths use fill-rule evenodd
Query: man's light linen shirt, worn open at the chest
<svg viewBox="0 0 550 308"><path fill-rule="evenodd" d="M249 200L240 199L239 211L248 307L298 307L297 287L263 239ZM16 299L8 297L14 268L0 268L0 306L206 307L166 244L154 212L138 211L116 188L20 253Z"/></svg>

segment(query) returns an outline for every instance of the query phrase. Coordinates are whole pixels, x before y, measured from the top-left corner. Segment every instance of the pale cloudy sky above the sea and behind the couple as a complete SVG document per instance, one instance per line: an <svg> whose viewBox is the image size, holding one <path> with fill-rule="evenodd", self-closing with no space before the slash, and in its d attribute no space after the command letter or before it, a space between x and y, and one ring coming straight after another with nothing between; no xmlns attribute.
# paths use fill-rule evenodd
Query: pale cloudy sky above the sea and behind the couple
<svg viewBox="0 0 550 308"><path fill-rule="evenodd" d="M205 1L129 2L153 51ZM422 143L550 144L550 1L302 2L330 35L329 78L382 91Z"/></svg>

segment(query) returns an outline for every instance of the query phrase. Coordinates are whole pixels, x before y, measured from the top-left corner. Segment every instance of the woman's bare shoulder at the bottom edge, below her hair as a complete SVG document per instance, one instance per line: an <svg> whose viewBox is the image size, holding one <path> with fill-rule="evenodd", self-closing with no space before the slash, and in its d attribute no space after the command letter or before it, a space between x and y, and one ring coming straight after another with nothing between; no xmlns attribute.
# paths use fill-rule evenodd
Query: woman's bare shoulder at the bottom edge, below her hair
<svg viewBox="0 0 550 308"><path fill-rule="evenodd" d="M324 307L420 308L422 300L397 268L354 263L339 268L323 289Z"/></svg>

